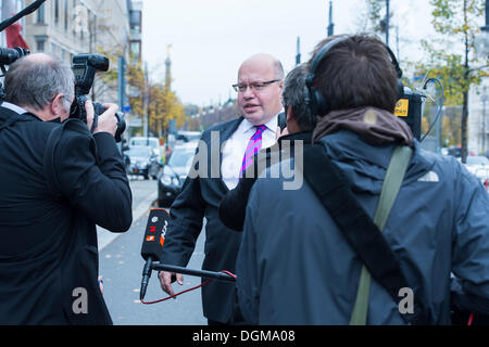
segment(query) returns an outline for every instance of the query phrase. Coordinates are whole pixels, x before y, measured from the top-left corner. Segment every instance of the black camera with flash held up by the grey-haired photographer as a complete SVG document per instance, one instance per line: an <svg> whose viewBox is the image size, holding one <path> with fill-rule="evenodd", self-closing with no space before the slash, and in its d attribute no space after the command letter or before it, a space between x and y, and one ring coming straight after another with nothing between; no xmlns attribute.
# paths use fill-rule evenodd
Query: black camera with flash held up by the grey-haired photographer
<svg viewBox="0 0 489 347"><path fill-rule="evenodd" d="M100 54L77 54L73 57L72 65L73 74L75 75L75 100L70 110L71 118L78 118L87 121L87 112L85 110L85 102L88 100L88 93L93 85L95 75L98 72L106 72L109 69L109 59ZM99 116L106 111L106 108L93 102L93 125L91 130L97 127ZM122 112L116 112L117 130L115 131L115 141L121 142L121 136L126 130L126 121Z"/></svg>

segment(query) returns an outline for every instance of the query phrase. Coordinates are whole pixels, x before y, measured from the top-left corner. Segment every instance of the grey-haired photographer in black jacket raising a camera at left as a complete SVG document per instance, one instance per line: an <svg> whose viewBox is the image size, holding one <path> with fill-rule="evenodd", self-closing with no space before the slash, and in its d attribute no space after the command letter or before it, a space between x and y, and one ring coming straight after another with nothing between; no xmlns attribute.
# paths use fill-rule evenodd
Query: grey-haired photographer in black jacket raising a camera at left
<svg viewBox="0 0 489 347"><path fill-rule="evenodd" d="M129 229L131 192L105 104L68 119L74 75L37 53L10 66L0 106L0 324L111 324L97 229ZM88 126L88 127L87 127ZM51 136L51 137L50 137ZM49 145L48 145L49 144Z"/></svg>

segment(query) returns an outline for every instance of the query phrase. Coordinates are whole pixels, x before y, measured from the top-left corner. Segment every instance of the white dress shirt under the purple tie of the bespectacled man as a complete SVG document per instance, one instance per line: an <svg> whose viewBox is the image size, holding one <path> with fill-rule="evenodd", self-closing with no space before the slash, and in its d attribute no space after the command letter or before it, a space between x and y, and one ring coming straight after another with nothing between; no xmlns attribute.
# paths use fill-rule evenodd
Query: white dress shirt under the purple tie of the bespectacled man
<svg viewBox="0 0 489 347"><path fill-rule="evenodd" d="M278 126L278 115L265 123L266 129L262 133L262 149L272 146ZM226 140L223 146L223 162L221 163L221 175L226 187L231 190L238 185L239 170L248 142L254 134L255 128L247 119L243 119L236 131Z"/></svg>

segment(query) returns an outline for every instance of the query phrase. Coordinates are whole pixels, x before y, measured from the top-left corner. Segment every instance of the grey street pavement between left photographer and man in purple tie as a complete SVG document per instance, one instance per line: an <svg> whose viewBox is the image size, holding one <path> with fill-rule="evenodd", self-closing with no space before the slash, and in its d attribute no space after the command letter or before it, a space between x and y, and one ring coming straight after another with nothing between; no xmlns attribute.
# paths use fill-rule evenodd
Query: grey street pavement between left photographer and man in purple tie
<svg viewBox="0 0 489 347"><path fill-rule="evenodd" d="M149 210L156 200L156 181L131 180L133 226L121 234L99 229L99 272L103 279L103 296L115 325L204 325L200 288L153 305L139 301L142 259L141 243ZM153 206L155 207L155 206ZM198 239L188 268L200 269L203 260L203 236ZM175 293L199 285L200 278L184 275L184 285L174 283ZM166 297L153 271L146 301Z"/></svg>

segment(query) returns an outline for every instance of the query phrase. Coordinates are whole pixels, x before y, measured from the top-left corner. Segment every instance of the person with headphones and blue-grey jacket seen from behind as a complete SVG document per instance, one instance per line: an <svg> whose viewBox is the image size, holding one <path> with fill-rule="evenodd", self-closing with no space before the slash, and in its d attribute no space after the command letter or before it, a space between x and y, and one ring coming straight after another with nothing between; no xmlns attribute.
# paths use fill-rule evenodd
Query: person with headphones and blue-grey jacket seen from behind
<svg viewBox="0 0 489 347"><path fill-rule="evenodd" d="M451 324L453 310L489 313L488 194L393 115L401 77L375 36L317 44L304 103L319 120L304 183L287 191L259 178L248 201L236 274L250 324Z"/></svg>

